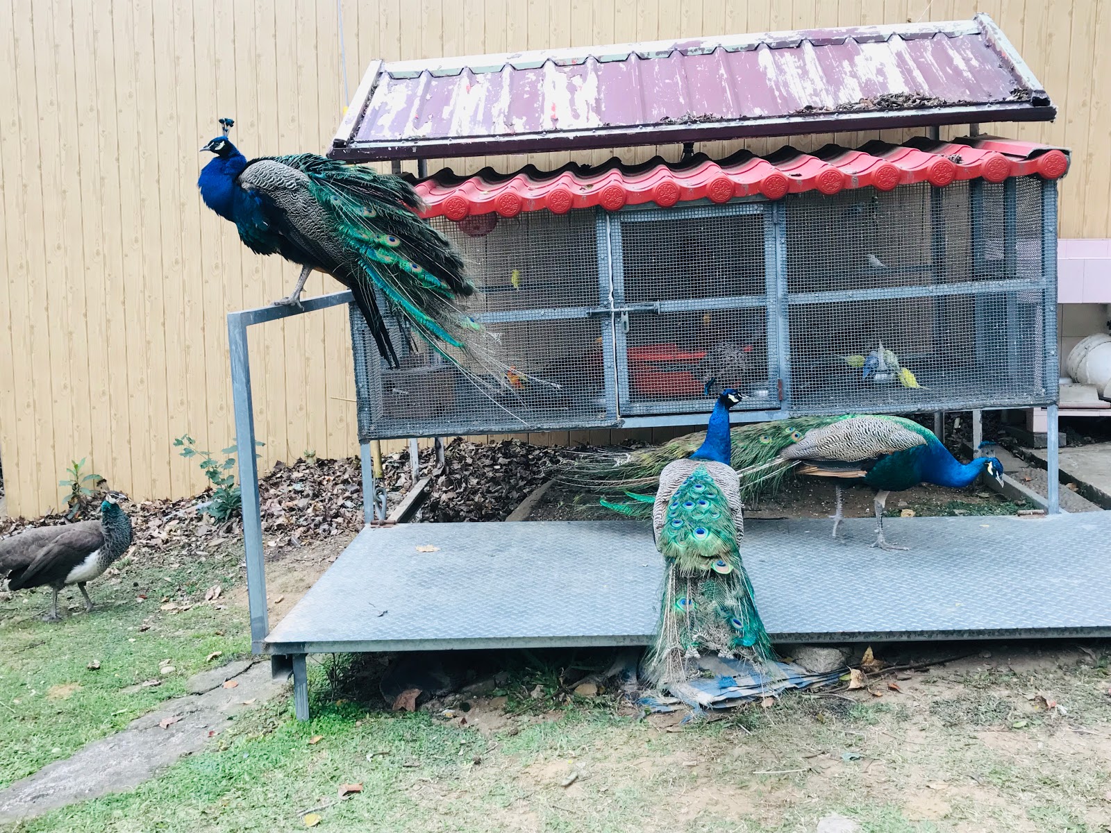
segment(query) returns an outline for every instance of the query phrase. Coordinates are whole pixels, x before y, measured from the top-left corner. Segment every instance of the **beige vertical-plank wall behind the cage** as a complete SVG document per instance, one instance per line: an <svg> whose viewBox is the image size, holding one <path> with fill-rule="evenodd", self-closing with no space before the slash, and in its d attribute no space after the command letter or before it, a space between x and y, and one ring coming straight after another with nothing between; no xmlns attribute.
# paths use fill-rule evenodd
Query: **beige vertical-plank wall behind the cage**
<svg viewBox="0 0 1111 833"><path fill-rule="evenodd" d="M387 60L775 29L969 18L1002 26L1057 101L1052 124L998 131L1073 150L1061 234L1111 237L1111 2L1095 0L342 0L350 90ZM8 509L57 506L71 459L133 498L203 481L171 442L233 429L224 314L284 294L296 268L246 250L206 209L197 149L237 120L248 154L327 147L346 101L336 0L0 3L0 454ZM992 126L984 126L992 129ZM947 136L963 132L947 129ZM839 133L859 144L907 131ZM792 140L815 148L831 137ZM781 143L748 144L765 153ZM700 147L724 154L735 142ZM625 149L640 161L678 145ZM602 161L610 151L442 162L470 172ZM432 170L441 162L433 160ZM409 164L414 170L414 165ZM308 290L337 288L313 275ZM254 328L263 464L354 451L347 315ZM635 432L643 438L672 430ZM607 441L607 431L532 435ZM397 448L393 444L391 448Z"/></svg>

